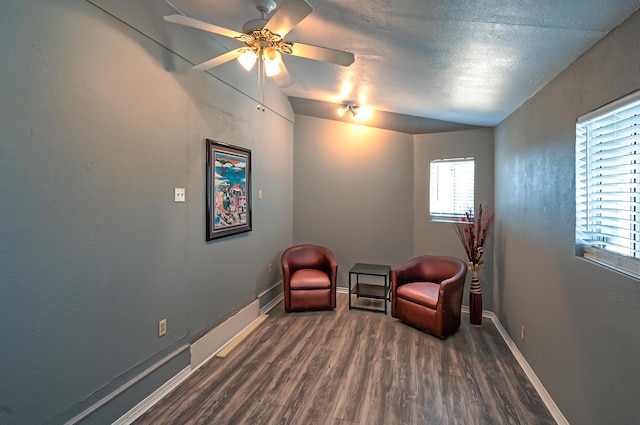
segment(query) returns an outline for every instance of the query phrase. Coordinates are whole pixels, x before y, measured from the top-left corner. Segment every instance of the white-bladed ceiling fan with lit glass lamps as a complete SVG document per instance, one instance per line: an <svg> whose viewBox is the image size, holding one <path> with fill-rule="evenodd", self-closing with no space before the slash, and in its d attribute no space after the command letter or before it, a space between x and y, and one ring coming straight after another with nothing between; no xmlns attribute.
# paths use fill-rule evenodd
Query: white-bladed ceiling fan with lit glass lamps
<svg viewBox="0 0 640 425"><path fill-rule="evenodd" d="M261 18L246 22L242 26L242 32L199 21L184 15L167 15L164 17L164 20L233 38L244 43L244 46L238 49L223 53L206 62L195 65L193 69L196 70L211 69L230 60L238 59L240 64L247 71L250 71L253 69L257 59L260 58L261 60L257 61L258 66L261 68L258 70L259 78L262 76L263 69L268 77L273 77L276 84L282 87L291 84L291 78L289 77L287 68L281 60L282 54L342 66L349 66L353 63L353 53L311 44L286 41L284 39L293 27L313 12L313 8L306 0L284 0L277 9L274 0L254 0L254 2L261 14ZM272 11L273 15L267 19L267 16Z"/></svg>

